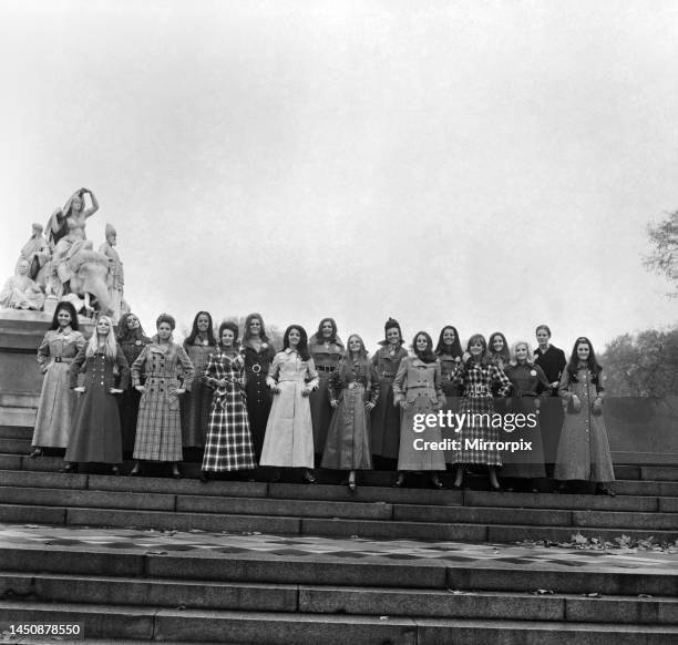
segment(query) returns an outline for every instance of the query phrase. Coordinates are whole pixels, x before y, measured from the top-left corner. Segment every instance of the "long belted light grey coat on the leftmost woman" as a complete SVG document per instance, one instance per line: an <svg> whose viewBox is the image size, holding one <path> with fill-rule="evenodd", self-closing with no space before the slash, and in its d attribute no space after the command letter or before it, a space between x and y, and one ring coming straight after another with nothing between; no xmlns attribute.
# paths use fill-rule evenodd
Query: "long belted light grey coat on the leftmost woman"
<svg viewBox="0 0 678 645"><path fill-rule="evenodd" d="M69 367L84 347L80 331L50 329L38 348L38 362L44 372L32 446L66 448L73 424L75 395L69 387Z"/></svg>

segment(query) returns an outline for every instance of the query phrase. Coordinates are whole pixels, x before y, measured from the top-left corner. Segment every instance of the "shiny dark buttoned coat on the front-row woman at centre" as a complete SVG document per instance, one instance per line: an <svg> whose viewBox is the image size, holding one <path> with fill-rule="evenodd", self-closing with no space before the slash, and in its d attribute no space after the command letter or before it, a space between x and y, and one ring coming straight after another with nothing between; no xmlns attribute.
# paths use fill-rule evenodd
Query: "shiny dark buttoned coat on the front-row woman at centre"
<svg viewBox="0 0 678 645"><path fill-rule="evenodd" d="M364 406L379 400L379 379L368 360L342 360L329 379L337 408L327 433L322 468L370 470L370 413Z"/></svg>

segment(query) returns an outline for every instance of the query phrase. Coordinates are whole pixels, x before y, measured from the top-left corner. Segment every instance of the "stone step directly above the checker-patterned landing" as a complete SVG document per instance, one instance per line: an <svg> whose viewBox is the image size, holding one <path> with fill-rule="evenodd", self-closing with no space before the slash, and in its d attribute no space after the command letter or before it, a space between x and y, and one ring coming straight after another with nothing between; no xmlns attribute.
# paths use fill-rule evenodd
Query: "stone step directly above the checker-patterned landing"
<svg viewBox="0 0 678 645"><path fill-rule="evenodd" d="M590 514L598 524L597 512ZM651 519L651 515L649 516ZM583 515L581 521L585 521ZM489 523L442 523L424 521L352 520L258 514L217 514L172 511L136 511L131 509L72 508L50 505L0 504L0 521L73 526L117 526L191 531L259 532L280 535L330 538L401 539L458 542L569 542L581 533L615 543L623 534L634 540L653 538L660 543L678 540L678 530L664 530L646 522L637 529L598 528L586 524L534 525ZM630 521L630 520L629 520Z"/></svg>

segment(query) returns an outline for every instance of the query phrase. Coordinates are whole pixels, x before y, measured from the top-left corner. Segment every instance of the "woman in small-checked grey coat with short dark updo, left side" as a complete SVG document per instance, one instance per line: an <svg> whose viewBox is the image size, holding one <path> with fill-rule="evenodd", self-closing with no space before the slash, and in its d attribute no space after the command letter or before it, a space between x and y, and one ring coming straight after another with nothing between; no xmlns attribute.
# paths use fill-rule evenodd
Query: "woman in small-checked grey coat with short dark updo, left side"
<svg viewBox="0 0 678 645"><path fill-rule="evenodd" d="M142 393L133 458L130 474L141 472L141 460L174 462L172 474L182 477L182 420L179 396L191 389L195 370L181 345L172 341L175 321L161 314L156 321L157 335L146 345L132 364L132 385ZM146 376L141 385L142 371Z"/></svg>

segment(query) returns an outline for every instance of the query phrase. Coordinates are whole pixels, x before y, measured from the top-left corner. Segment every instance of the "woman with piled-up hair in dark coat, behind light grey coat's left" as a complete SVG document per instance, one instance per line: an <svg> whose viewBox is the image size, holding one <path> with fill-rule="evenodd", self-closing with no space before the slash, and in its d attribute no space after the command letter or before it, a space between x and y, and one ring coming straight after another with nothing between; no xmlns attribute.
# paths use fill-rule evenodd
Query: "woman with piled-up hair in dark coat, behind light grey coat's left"
<svg viewBox="0 0 678 645"><path fill-rule="evenodd" d="M378 469L389 467L393 470L400 450L400 408L393 406L393 379L408 351L402 347L402 331L398 320L389 318L383 330L386 338L372 356L380 392L377 407L370 416L372 454Z"/></svg>

